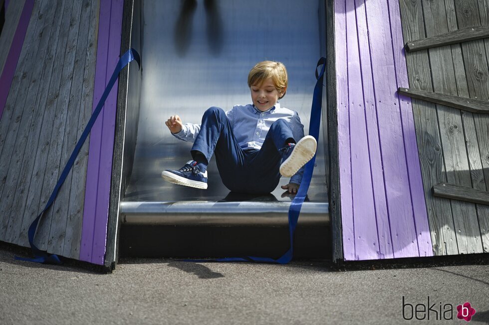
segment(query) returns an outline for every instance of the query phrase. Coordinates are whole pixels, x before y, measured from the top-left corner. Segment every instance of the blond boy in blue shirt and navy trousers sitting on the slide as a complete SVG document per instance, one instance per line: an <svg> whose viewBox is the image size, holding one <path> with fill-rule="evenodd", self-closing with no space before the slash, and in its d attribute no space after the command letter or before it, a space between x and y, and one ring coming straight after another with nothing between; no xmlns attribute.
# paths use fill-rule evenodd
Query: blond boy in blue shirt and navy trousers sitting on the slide
<svg viewBox="0 0 489 325"><path fill-rule="evenodd" d="M207 189L207 165L212 155L224 185L233 192L270 193L280 175L291 177L282 186L297 193L303 165L316 152L314 137L304 136L296 111L278 103L287 90L287 71L280 62L262 61L248 74L253 104L224 111L211 107L202 124L183 124L178 115L166 122L178 139L194 142L193 160L161 176L172 183ZM299 141L296 141L299 139Z"/></svg>

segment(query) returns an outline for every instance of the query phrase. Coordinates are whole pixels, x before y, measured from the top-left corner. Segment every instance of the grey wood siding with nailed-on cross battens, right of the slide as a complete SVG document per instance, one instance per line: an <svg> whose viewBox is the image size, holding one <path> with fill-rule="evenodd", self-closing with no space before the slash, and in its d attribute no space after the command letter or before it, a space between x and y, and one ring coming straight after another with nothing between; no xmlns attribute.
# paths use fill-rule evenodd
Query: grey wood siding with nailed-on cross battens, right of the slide
<svg viewBox="0 0 489 325"><path fill-rule="evenodd" d="M401 0L406 40L488 25L486 0ZM489 100L489 41L476 40L406 56L410 86L418 90ZM413 100L424 193L436 255L489 251L489 207L433 197L439 182L488 191L487 115Z"/></svg>

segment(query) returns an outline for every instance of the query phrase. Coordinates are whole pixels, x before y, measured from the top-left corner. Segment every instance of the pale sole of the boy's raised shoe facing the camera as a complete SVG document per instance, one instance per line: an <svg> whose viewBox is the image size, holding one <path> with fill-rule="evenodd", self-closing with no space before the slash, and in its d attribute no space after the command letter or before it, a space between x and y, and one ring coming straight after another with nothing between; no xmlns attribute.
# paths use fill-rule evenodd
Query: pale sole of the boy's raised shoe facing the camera
<svg viewBox="0 0 489 325"><path fill-rule="evenodd" d="M317 142L311 135L306 135L297 142L290 157L280 165L280 175L292 177L316 153Z"/></svg>

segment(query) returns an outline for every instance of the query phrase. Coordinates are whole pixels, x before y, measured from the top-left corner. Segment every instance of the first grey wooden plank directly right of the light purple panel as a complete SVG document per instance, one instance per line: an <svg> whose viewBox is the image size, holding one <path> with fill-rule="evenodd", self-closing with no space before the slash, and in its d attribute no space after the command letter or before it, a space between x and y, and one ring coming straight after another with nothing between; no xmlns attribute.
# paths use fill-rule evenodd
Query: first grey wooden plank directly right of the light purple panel
<svg viewBox="0 0 489 325"><path fill-rule="evenodd" d="M404 39L426 37L421 0L401 0L400 8ZM411 88L433 91L428 52L406 53L406 62ZM435 255L458 254L451 207L431 194L430 184L446 181L436 108L432 103L417 99L412 101L412 108L433 252Z"/></svg>

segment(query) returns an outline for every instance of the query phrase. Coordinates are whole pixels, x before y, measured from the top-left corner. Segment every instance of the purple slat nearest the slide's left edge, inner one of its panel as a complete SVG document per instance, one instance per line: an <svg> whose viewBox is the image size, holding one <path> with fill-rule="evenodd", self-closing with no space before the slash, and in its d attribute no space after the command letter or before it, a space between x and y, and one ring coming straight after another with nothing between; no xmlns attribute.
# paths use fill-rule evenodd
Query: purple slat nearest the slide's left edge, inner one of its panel
<svg viewBox="0 0 489 325"><path fill-rule="evenodd" d="M121 51L121 31L123 0L112 0L110 15L109 47L107 56L106 80L109 80L113 69L119 61ZM116 82L117 85L117 82ZM99 190L95 231L93 235L92 263L103 264L106 239L107 220L109 214L110 180L112 175L112 157L114 151L115 119L117 108L117 87L110 92L103 111L102 145L99 165Z"/></svg>

